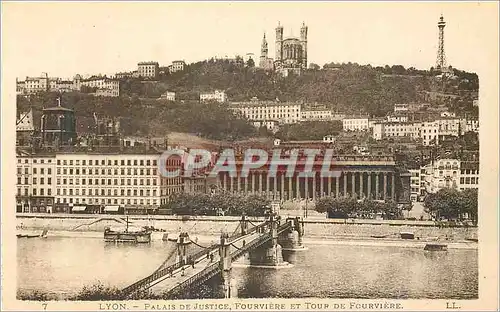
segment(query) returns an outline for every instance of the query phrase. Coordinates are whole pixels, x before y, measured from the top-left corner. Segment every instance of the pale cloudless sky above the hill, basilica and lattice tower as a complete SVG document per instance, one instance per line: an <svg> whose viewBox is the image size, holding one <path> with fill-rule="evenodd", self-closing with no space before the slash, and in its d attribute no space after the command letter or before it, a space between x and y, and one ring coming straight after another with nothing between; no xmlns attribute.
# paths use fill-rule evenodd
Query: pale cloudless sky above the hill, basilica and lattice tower
<svg viewBox="0 0 500 312"><path fill-rule="evenodd" d="M493 4L494 5L494 4ZM70 78L131 71L140 61L188 63L254 53L275 27L298 36L305 22L308 63L356 62L428 69L436 63L443 14L448 64L476 71L488 57L492 3L2 3L4 66L15 76ZM7 62L8 60L8 62Z"/></svg>

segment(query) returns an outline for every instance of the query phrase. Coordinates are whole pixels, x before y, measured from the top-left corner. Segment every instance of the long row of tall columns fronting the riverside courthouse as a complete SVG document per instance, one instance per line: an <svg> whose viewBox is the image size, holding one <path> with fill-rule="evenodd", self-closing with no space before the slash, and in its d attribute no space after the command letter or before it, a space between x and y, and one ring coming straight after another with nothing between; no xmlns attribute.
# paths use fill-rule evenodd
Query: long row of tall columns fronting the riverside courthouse
<svg viewBox="0 0 500 312"><path fill-rule="evenodd" d="M368 198L375 200L396 200L398 176L391 171L343 171L338 177L321 177L316 172L311 177L276 177L267 172L250 172L247 177L230 177L229 173L219 175L219 186L233 193L266 195L271 199L292 200L320 198L323 196Z"/></svg>

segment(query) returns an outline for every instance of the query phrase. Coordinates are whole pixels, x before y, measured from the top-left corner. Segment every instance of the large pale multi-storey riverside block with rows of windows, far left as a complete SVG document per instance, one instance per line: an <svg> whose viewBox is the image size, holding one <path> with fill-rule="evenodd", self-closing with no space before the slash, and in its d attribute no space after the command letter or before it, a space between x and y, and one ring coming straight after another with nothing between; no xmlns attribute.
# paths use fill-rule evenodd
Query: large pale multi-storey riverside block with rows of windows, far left
<svg viewBox="0 0 500 312"><path fill-rule="evenodd" d="M96 212L117 207L131 213L157 209L183 188L181 176L161 176L159 157L156 150L140 148L43 156L19 153L18 205L22 211L26 204L29 211L46 211L39 206L53 205L54 212L71 212L76 206L93 207ZM170 157L166 168L181 169L181 158Z"/></svg>

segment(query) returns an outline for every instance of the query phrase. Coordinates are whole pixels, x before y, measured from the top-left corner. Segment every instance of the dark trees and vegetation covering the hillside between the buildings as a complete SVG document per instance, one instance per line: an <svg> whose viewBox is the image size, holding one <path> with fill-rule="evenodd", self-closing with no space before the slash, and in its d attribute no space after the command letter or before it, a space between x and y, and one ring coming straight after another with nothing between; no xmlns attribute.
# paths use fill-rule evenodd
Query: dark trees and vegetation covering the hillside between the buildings
<svg viewBox="0 0 500 312"><path fill-rule="evenodd" d="M318 68L319 66L313 66ZM227 60L207 60L186 66L183 72L161 76L158 81L125 79L119 98L93 97L85 93L61 95L65 107L75 109L78 131L87 129L93 114L122 120L124 134L163 136L168 132L186 132L216 140L241 140L269 136L255 129L241 116L235 116L224 105L198 103L199 92L215 89L226 91L230 101L253 97L261 100L321 103L344 113L367 113L383 116L396 103L422 100L422 93L461 94L450 104L453 109L472 107L471 92L477 92L476 74L455 70L454 79L439 80L436 73L425 70L358 64L325 64L324 69L310 69L301 76L281 78L253 66L237 65ZM160 99L165 91L175 91L177 102ZM462 95L465 94L465 95ZM54 106L56 93L18 96L17 108L24 112L33 108L35 125L43 107ZM309 127L309 126L308 126ZM310 139L311 133L334 133L339 125L321 124L314 131L304 126L285 127L280 137ZM311 129L309 129L311 130Z"/></svg>

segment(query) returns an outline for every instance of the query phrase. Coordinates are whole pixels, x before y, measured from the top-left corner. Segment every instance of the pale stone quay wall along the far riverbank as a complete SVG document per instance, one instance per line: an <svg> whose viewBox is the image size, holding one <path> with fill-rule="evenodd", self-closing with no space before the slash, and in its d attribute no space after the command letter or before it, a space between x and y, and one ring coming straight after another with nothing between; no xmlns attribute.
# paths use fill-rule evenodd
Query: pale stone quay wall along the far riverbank
<svg viewBox="0 0 500 312"><path fill-rule="evenodd" d="M123 226L126 217L122 215L47 215L18 214L16 228L18 230L38 231L44 228L49 231L103 232L106 226ZM179 233L180 230L197 235L216 235L221 231L233 233L239 224L239 217L189 217L188 220L178 216L130 216L131 226L154 226L166 233ZM251 219L254 224L264 219ZM239 230L239 229L238 229ZM421 239L439 238L450 241L463 241L466 238L477 238L476 227L434 226L425 221L375 221L375 220L331 220L315 219L304 221L304 233L311 238L356 239L369 238L372 235L385 236L387 239L399 237L400 232L412 232Z"/></svg>

